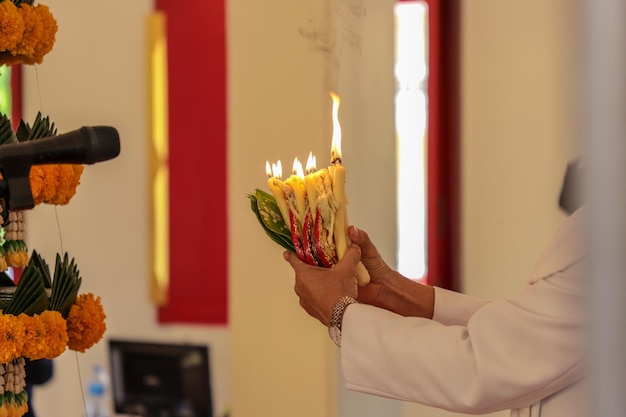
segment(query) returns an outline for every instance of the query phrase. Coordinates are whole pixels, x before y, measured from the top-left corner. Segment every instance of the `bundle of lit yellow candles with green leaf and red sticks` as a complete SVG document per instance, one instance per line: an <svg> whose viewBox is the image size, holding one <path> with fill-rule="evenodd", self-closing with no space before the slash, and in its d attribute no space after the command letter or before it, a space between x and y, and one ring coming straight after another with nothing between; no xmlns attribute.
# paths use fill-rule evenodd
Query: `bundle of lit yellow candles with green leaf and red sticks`
<svg viewBox="0 0 626 417"><path fill-rule="evenodd" d="M333 95L329 167L318 170L315 157L310 153L306 172L296 158L292 175L283 181L280 161L272 165L268 161L265 170L271 194L257 189L249 195L253 212L272 240L295 252L300 260L327 268L343 257L350 244L338 107L338 97ZM357 279L359 285L369 282L369 274L362 264L359 264Z"/></svg>

